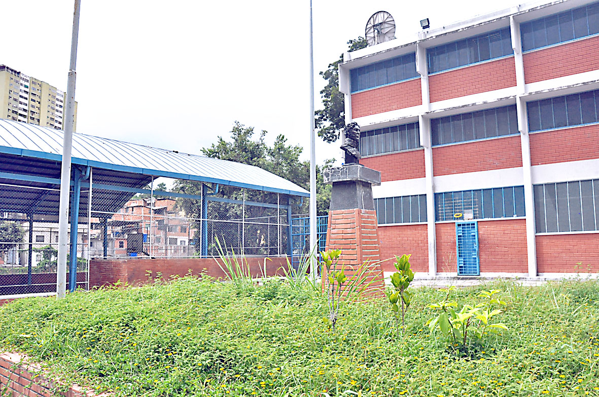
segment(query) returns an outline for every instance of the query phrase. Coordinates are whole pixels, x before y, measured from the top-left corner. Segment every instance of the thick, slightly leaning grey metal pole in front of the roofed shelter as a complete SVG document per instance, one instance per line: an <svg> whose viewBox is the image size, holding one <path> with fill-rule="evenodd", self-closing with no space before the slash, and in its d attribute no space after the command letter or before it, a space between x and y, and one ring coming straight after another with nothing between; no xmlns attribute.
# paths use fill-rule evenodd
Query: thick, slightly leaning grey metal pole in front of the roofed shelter
<svg viewBox="0 0 599 397"><path fill-rule="evenodd" d="M71 188L71 146L75 124L75 68L77 66L77 41L79 35L79 9L81 0L75 0L73 30L71 35L71 62L66 84L65 134L62 142L60 169L60 207L58 213L58 264L56 269L56 297L66 295L66 252L68 251L69 190ZM74 209L74 210L78 210ZM75 229L76 233L76 229Z"/></svg>

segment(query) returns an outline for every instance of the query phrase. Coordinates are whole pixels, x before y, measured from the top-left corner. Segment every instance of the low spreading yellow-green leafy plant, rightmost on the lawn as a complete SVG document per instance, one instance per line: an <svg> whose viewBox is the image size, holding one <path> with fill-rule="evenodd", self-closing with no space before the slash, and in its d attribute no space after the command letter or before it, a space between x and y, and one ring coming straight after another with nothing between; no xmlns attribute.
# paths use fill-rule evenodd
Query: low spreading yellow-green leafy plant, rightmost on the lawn
<svg viewBox="0 0 599 397"><path fill-rule="evenodd" d="M478 340L482 340L486 331L501 332L507 330L504 323L491 323L491 317L503 313L503 310L493 309L495 306L505 306L506 303L498 298L501 292L498 289L490 291L480 291L479 297L486 298L482 303L474 305L464 304L459 312L454 308L458 307L456 301L449 301L449 293L455 290L455 286L447 289L441 289L446 292L445 300L438 303L428 304L426 307L438 311L437 316L432 317L426 322L431 332L440 329L443 335L451 334L453 342L461 344L462 350L467 350L468 331ZM497 295L497 297L495 296Z"/></svg>

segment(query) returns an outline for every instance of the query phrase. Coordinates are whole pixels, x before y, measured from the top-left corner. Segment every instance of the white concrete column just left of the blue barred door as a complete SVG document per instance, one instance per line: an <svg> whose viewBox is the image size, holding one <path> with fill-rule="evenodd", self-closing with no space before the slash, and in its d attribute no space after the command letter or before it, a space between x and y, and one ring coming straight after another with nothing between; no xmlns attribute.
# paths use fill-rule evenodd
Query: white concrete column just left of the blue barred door
<svg viewBox="0 0 599 397"><path fill-rule="evenodd" d="M432 145L431 145L431 120L426 114L431 108L428 91L428 63L426 62L426 48L420 43L416 44L416 71L420 75L420 88L422 91L422 106L418 115L420 128L420 145L424 147L424 169L426 184L426 236L428 241L428 275L437 274L437 235L435 231L435 189L432 182Z"/></svg>

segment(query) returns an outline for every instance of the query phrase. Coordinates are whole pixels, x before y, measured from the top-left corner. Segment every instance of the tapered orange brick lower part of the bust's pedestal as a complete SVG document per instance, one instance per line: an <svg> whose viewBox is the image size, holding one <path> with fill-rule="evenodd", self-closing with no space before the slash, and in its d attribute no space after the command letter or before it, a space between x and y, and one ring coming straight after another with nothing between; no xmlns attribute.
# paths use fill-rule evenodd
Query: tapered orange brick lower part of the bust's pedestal
<svg viewBox="0 0 599 397"><path fill-rule="evenodd" d="M329 211L329 227L326 232L326 249L340 249L338 268L344 266L346 276L353 276L359 267L367 263L364 274L374 282L369 291L380 291L385 286L380 265L379 233L376 212L368 209L342 209ZM324 283L324 279L323 279Z"/></svg>

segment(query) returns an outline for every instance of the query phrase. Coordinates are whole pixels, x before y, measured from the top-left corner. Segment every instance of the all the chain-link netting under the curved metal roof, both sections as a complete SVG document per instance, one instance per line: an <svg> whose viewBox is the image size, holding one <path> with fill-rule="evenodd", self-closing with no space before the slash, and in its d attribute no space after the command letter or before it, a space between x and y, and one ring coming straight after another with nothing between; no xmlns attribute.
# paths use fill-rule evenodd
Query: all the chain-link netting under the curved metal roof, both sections
<svg viewBox="0 0 599 397"><path fill-rule="evenodd" d="M125 182L95 186L92 170L78 199L78 288L89 289L89 262L95 258L292 253L289 195L232 187L219 191L215 184L189 181L161 189L153 180L140 188ZM56 292L58 209L49 203L58 198L58 187L0 184L0 296Z"/></svg>

